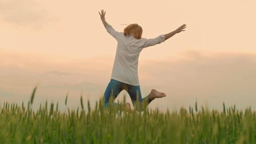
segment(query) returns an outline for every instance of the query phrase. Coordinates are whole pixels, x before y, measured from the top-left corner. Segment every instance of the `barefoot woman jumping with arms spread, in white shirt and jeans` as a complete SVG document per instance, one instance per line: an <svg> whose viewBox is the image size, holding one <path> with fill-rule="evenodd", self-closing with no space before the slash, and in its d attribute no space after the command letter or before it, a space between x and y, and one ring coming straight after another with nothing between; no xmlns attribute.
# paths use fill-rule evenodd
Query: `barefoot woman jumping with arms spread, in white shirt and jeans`
<svg viewBox="0 0 256 144"><path fill-rule="evenodd" d="M138 24L128 25L124 29L124 33L118 32L105 21L106 12L104 10L101 10L99 14L107 32L118 42L111 79L104 93L105 107L109 106L109 102L116 105L116 103L110 101L110 97L113 96L112 100L115 100L124 89L131 97L134 106L138 96L138 110L142 110L143 102L147 106L153 99L165 97L164 93L152 89L149 95L142 99L138 81L138 57L143 48L162 43L174 36L174 34L185 31L183 29L186 28L186 25L183 24L177 30L168 34L162 34L154 39L145 39L141 38L142 28ZM131 111L131 106L128 102L124 105L127 111Z"/></svg>

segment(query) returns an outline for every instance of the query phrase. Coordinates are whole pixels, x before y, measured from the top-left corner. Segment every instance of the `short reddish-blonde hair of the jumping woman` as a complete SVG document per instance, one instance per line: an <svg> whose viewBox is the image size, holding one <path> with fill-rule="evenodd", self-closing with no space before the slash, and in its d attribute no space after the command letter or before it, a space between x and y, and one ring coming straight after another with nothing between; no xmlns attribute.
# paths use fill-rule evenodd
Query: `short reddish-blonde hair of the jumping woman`
<svg viewBox="0 0 256 144"><path fill-rule="evenodd" d="M129 35L133 34L136 39L141 39L142 36L142 28L138 24L129 24L125 29L124 29L124 34Z"/></svg>

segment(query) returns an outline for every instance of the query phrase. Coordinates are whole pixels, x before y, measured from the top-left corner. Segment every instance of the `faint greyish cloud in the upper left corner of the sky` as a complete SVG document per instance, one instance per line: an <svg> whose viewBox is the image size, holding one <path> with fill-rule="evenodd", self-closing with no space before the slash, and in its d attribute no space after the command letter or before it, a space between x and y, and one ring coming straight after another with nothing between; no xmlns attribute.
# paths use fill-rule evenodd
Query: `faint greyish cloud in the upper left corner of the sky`
<svg viewBox="0 0 256 144"><path fill-rule="evenodd" d="M16 26L41 28L49 21L46 9L34 0L0 0L0 15Z"/></svg>

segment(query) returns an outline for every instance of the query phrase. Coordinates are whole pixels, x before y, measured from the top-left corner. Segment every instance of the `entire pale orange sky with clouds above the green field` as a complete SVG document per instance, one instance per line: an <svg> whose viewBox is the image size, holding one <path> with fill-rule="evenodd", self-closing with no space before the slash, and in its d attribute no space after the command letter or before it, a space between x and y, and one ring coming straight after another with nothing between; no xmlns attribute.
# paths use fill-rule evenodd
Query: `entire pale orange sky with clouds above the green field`
<svg viewBox="0 0 256 144"><path fill-rule="evenodd" d="M255 106L256 24L254 0L61 1L0 0L0 102L46 100L76 108L80 96L97 101L110 81L116 40L99 11L117 31L137 23L142 37L154 38L186 24L186 31L142 50L141 94L151 89L167 97L161 110L222 103ZM128 102L128 93L122 91ZM61 103L62 102L62 103Z"/></svg>

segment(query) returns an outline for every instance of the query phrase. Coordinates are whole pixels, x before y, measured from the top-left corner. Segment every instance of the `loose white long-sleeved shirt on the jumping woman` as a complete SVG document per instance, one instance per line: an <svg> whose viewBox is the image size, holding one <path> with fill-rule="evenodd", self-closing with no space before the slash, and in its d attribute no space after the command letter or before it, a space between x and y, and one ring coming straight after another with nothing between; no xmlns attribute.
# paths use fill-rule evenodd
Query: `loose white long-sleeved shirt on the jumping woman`
<svg viewBox="0 0 256 144"><path fill-rule="evenodd" d="M115 31L111 25L107 25L106 29L118 42L111 79L139 86L138 57L141 50L164 42L165 36L162 34L154 39L136 39L133 35L125 36Z"/></svg>

